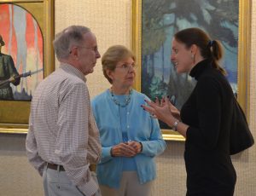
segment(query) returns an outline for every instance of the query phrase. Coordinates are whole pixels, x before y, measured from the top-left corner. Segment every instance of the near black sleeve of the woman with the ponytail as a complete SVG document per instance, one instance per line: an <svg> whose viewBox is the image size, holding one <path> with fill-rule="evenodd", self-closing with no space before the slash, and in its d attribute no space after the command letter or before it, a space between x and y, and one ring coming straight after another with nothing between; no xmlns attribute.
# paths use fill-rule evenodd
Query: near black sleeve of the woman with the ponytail
<svg viewBox="0 0 256 196"><path fill-rule="evenodd" d="M189 126L187 140L196 146L216 147L221 123L221 95L218 81L202 78L197 84L196 105L199 127Z"/></svg>

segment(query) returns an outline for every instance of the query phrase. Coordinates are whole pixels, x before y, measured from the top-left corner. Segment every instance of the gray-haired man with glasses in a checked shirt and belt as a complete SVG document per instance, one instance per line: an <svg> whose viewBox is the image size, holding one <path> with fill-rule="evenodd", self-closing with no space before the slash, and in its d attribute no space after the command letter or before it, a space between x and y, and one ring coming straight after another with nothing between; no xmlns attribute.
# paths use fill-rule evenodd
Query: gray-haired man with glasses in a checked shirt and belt
<svg viewBox="0 0 256 196"><path fill-rule="evenodd" d="M33 95L26 153L43 176L45 195L100 195L90 165L100 160L101 144L84 78L101 57L96 37L85 26L69 26L54 47L61 64Z"/></svg>

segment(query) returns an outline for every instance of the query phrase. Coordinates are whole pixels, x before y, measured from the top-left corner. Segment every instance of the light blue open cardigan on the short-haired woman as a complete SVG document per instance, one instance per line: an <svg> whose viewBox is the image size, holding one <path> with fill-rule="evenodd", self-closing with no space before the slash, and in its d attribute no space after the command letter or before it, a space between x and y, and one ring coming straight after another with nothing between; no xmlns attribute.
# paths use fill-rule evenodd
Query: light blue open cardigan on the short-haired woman
<svg viewBox="0 0 256 196"><path fill-rule="evenodd" d="M128 140L143 144L143 152L135 156L137 175L140 183L154 180L156 176L154 157L163 153L166 142L161 135L157 119L151 118L141 105L145 104L146 95L132 90L131 102L127 106ZM107 89L92 101L96 124L100 130L102 159L97 165L97 178L100 184L119 187L122 176L122 159L110 155L111 147L123 142L120 127L119 107L113 102Z"/></svg>

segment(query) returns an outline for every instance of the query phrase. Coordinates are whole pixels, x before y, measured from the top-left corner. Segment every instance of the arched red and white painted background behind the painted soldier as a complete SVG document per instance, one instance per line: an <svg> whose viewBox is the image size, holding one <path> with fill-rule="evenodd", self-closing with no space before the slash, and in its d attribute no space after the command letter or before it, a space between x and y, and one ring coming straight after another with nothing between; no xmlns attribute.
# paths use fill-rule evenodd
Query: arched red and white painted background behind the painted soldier
<svg viewBox="0 0 256 196"><path fill-rule="evenodd" d="M26 9L13 3L0 4L0 35L4 45L1 54L10 55L15 67L4 68L6 61L0 62L0 82L8 83L12 74L20 75L19 84L3 84L0 86L0 99L4 96L4 87L10 86L15 101L31 101L32 93L44 78L43 33L38 21ZM15 72L10 69L15 69ZM16 75L17 75L16 74ZM3 89L3 90L1 90ZM3 92L2 92L3 91ZM10 99L8 99L10 100Z"/></svg>

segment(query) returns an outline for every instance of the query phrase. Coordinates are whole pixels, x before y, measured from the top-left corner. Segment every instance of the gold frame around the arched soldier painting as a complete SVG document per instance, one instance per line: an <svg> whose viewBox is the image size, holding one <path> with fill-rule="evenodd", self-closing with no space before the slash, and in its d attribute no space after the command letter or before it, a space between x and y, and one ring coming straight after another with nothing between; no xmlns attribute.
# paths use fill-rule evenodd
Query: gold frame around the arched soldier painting
<svg viewBox="0 0 256 196"><path fill-rule="evenodd" d="M0 5L25 9L37 22L42 37L42 66L43 78L55 69L54 49L54 0L2 0ZM11 18L11 17L10 17ZM0 21L1 22L1 21ZM0 101L0 132L27 133L31 101Z"/></svg>

